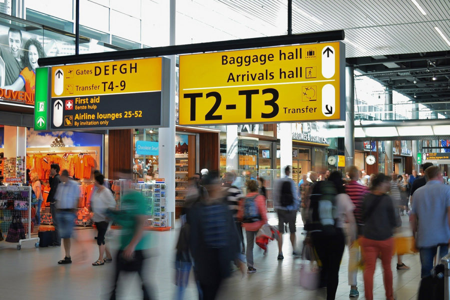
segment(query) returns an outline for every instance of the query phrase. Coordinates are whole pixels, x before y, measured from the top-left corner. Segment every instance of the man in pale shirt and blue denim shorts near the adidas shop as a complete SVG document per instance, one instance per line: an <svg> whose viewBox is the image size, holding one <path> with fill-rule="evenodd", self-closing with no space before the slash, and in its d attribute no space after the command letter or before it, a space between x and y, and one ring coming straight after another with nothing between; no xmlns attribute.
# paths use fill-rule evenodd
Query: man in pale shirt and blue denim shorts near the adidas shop
<svg viewBox="0 0 450 300"><path fill-rule="evenodd" d="M58 233L63 240L65 257L58 261L59 264L72 263L70 257L70 238L75 225L76 207L79 201L79 185L69 179L68 171L62 170L61 182L58 184L56 194L56 219Z"/></svg>

